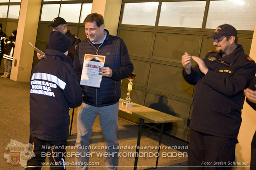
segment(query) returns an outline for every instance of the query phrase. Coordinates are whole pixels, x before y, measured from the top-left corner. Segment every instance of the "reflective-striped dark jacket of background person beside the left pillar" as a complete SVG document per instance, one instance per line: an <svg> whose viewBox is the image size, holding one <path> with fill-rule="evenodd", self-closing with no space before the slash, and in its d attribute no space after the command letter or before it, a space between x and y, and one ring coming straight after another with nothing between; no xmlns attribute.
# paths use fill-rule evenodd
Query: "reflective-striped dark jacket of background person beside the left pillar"
<svg viewBox="0 0 256 170"><path fill-rule="evenodd" d="M10 36L5 40L5 47L3 48L3 58L13 60L13 52L15 47L16 36Z"/></svg>

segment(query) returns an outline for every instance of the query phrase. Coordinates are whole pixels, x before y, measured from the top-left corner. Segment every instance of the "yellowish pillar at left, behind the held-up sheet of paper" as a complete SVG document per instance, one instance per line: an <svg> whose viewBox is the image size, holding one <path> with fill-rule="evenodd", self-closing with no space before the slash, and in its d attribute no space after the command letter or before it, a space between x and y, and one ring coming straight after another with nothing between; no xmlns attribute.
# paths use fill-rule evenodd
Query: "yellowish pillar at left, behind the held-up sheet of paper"
<svg viewBox="0 0 256 170"><path fill-rule="evenodd" d="M29 82L42 0L22 0L10 79Z"/></svg>

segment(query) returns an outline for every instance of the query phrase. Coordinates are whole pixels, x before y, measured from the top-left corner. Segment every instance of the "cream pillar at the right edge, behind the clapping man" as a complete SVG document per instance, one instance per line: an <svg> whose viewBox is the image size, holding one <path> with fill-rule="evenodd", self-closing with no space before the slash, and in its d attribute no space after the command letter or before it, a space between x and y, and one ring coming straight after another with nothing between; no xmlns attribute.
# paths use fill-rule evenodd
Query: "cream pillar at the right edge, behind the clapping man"
<svg viewBox="0 0 256 170"><path fill-rule="evenodd" d="M239 40L238 40L239 42ZM249 55L254 61L256 61L256 25L253 33L253 40L251 43L251 50ZM244 101L242 110L242 124L238 134L239 143L236 145L236 159L237 162L248 163L244 166L250 165L251 160L251 141L253 139L254 132L256 130L256 111ZM249 167L243 167L245 170L249 170Z"/></svg>

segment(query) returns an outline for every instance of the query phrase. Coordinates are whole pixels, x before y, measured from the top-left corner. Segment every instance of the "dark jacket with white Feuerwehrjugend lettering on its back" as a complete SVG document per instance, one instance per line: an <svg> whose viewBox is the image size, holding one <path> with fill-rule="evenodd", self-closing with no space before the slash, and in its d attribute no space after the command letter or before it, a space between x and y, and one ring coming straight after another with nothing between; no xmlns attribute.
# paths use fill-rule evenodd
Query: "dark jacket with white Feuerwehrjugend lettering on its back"
<svg viewBox="0 0 256 170"><path fill-rule="evenodd" d="M82 89L70 59L60 51L45 50L30 81L30 134L45 141L69 136L69 108L82 103Z"/></svg>

